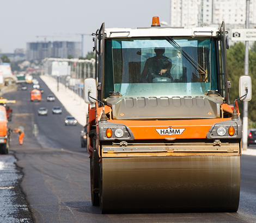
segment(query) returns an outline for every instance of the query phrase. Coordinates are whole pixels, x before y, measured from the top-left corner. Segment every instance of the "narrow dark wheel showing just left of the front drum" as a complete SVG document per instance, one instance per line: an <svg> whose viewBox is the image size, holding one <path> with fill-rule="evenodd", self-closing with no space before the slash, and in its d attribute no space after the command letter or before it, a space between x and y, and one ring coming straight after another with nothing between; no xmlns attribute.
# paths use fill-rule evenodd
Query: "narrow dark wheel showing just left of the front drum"
<svg viewBox="0 0 256 223"><path fill-rule="evenodd" d="M93 154L90 157L90 192L93 206L99 206L99 156L96 150L96 139L94 138Z"/></svg>

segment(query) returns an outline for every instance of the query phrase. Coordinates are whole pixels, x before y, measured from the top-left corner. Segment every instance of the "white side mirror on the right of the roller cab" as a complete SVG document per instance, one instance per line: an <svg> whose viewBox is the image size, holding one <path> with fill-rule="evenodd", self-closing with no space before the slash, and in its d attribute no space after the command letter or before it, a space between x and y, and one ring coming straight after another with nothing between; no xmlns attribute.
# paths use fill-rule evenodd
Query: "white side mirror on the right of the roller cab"
<svg viewBox="0 0 256 223"><path fill-rule="evenodd" d="M247 95L245 95L247 93ZM245 97L242 97L245 95ZM249 101L252 99L252 78L249 75L242 75L239 78L239 97L242 101Z"/></svg>

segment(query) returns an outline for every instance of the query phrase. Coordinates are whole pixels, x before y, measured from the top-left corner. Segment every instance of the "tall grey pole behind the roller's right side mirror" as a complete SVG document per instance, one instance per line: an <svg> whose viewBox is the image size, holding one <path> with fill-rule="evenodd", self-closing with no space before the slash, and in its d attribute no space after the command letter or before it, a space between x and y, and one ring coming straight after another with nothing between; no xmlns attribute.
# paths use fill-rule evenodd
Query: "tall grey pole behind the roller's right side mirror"
<svg viewBox="0 0 256 223"><path fill-rule="evenodd" d="M246 0L246 22L245 28L249 28L249 0ZM249 41L245 41L245 75L249 74ZM248 130L248 101L243 102L243 135L242 149L247 150L247 130Z"/></svg>

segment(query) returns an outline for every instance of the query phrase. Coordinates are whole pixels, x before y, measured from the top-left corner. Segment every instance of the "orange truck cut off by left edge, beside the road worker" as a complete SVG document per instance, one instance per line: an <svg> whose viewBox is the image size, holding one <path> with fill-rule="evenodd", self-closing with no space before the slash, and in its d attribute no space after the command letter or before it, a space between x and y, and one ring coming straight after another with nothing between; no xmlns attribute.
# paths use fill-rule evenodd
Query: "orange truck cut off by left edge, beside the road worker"
<svg viewBox="0 0 256 223"><path fill-rule="evenodd" d="M10 137L7 127L7 112L3 105L0 105L0 154L8 154Z"/></svg>

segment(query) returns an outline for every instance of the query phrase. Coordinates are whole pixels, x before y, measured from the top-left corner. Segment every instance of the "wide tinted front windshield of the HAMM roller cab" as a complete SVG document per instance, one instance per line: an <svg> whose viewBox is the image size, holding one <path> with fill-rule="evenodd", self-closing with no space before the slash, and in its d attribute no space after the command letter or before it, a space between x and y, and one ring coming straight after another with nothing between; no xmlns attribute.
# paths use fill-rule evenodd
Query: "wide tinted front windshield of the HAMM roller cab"
<svg viewBox="0 0 256 223"><path fill-rule="evenodd" d="M218 90L217 41L210 37L108 39L104 97L203 95Z"/></svg>

